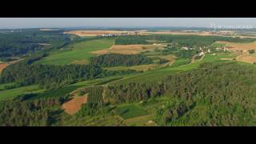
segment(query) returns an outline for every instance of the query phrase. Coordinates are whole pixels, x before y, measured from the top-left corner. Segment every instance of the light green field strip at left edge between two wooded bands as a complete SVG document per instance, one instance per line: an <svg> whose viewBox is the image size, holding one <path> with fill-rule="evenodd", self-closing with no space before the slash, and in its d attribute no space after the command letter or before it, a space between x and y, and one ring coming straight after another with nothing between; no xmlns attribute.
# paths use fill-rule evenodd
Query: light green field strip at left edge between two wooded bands
<svg viewBox="0 0 256 144"><path fill-rule="evenodd" d="M22 86L22 87L10 89L10 90L2 90L0 91L0 102L15 98L21 94L33 93L34 91L37 91L37 90L38 90L38 85Z"/></svg>

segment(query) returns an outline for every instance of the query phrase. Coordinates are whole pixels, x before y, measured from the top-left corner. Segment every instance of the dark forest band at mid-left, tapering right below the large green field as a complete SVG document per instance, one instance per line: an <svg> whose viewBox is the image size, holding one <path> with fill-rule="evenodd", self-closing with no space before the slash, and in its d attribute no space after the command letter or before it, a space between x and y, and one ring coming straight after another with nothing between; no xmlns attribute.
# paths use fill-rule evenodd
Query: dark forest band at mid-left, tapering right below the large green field
<svg viewBox="0 0 256 144"><path fill-rule="evenodd" d="M33 57L7 66L0 75L0 83L15 82L14 86L6 86L6 89L33 84L38 84L44 89L52 89L91 78L141 73L136 70L102 70L100 66L92 64L54 66L33 63L45 56L46 54L43 53L35 54Z"/></svg>

